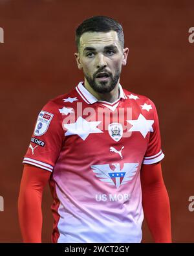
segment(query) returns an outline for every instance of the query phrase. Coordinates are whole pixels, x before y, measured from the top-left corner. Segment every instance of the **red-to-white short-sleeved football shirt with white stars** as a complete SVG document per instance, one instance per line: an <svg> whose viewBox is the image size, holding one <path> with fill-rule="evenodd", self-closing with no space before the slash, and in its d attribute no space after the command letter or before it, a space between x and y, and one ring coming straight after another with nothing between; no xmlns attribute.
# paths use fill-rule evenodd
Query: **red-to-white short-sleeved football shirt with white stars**
<svg viewBox="0 0 194 256"><path fill-rule="evenodd" d="M140 242L142 163L164 157L155 104L119 84L113 103L80 82L40 111L23 163L52 172L52 242Z"/></svg>

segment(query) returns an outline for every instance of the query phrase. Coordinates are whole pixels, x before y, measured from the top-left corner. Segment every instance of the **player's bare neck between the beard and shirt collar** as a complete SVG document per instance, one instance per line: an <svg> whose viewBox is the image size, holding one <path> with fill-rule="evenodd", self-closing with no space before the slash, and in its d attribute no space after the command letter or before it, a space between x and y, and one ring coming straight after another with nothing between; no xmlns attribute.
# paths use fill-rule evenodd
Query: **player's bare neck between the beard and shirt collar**
<svg viewBox="0 0 194 256"><path fill-rule="evenodd" d="M115 100L118 99L119 97L119 89L118 89L118 84L119 84L119 80L116 84L116 86L114 87L114 89L110 92L110 93L97 93L96 91L94 91L94 89L92 89L92 87L89 85L89 83L87 82L87 80L84 80L84 86L85 88L92 94L94 95L94 97L96 97L96 99L98 100L104 100L110 103L113 103Z"/></svg>

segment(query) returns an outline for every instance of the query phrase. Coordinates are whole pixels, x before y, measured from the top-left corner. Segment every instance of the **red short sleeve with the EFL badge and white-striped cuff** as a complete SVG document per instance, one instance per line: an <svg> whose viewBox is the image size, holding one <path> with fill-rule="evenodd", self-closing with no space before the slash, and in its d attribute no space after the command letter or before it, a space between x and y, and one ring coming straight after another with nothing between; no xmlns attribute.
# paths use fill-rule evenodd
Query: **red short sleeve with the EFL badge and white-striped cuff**
<svg viewBox="0 0 194 256"><path fill-rule="evenodd" d="M61 115L56 103L50 101L39 112L23 163L52 172L63 144Z"/></svg>

